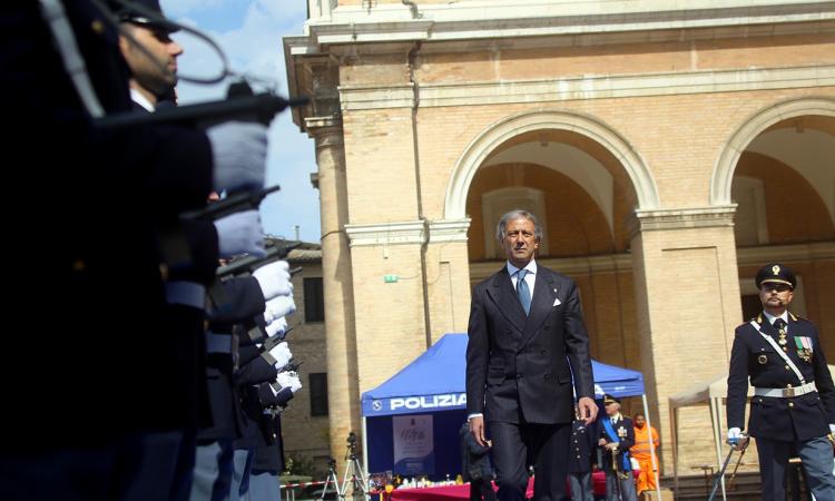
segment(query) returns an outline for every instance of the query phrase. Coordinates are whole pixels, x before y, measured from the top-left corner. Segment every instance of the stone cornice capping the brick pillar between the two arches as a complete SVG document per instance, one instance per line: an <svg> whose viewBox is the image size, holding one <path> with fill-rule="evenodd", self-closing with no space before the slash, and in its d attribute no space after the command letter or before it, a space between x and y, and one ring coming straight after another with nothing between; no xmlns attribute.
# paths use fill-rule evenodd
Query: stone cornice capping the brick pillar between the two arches
<svg viewBox="0 0 835 501"><path fill-rule="evenodd" d="M734 226L736 204L716 207L636 210L627 225L629 234L667 229L710 228Z"/></svg>

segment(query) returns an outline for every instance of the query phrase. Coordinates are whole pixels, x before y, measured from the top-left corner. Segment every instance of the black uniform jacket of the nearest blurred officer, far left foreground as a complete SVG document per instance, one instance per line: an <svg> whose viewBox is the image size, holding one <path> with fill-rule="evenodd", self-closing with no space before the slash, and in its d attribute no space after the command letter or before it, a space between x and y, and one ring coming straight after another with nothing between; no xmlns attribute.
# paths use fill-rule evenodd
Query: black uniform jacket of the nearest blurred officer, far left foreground
<svg viewBox="0 0 835 501"><path fill-rule="evenodd" d="M166 305L158 229L202 207L212 190L212 149L205 134L181 127L104 130L84 110L42 20L39 2L0 2L0 92L10 129L4 184L30 197L10 206L4 237L24 248L7 256L7 310L20 345L43 347L49 370L3 374L3 395L24 412L10 430L38 443L92 445L136 431L179 429L193 410L170 401L176 375L158 364ZM107 112L130 111L128 68L115 27L85 0L62 2L87 70ZM37 209L35 208L37 206ZM12 213L11 210L16 210ZM13 217L11 216L13 214ZM43 235L49 235L48 242ZM22 257L24 256L24 259ZM45 301L58 328L38 328ZM16 343L16 340L12 340ZM45 403L43 389L50 397ZM117 396L118 395L118 396ZM170 404L170 405L169 405ZM61 432L48 406L60 410Z"/></svg>

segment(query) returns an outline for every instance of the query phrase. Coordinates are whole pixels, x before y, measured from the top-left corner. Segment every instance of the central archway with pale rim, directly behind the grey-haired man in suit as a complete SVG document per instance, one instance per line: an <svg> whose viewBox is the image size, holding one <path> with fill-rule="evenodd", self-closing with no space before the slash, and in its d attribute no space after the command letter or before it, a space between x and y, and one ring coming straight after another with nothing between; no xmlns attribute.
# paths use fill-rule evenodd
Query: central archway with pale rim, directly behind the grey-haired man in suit
<svg viewBox="0 0 835 501"><path fill-rule="evenodd" d="M471 282L504 262L494 239L501 215L513 208L533 212L544 228L537 259L577 282L592 356L640 370L626 223L637 207L655 208L658 196L638 155L601 124L556 112L502 121L468 154L456 174L468 179L460 199L461 213L471 219Z"/></svg>

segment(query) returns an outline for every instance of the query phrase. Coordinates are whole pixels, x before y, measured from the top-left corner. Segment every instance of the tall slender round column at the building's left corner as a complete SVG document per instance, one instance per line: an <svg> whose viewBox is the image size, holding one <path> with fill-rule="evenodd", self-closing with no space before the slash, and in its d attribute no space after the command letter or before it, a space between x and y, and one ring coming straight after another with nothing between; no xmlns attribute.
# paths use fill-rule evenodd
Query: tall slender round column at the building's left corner
<svg viewBox="0 0 835 501"><path fill-rule="evenodd" d="M348 214L343 129L342 120L334 117L306 118L305 127L316 141L316 183L322 212L322 286L326 297L330 442L331 454L342 471L348 433L362 434L353 273L344 229Z"/></svg>

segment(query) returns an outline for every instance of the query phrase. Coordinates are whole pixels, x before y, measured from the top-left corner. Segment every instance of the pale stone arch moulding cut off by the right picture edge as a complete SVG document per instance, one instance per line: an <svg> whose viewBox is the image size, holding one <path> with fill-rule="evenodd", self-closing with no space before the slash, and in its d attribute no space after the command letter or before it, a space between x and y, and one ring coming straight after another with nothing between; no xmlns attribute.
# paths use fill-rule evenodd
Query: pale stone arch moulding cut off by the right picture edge
<svg viewBox="0 0 835 501"><path fill-rule="evenodd" d="M803 98L779 102L757 111L728 139L714 167L710 178L710 205L730 205L730 188L739 156L768 127L789 118L805 115L835 117L835 100L827 98Z"/></svg>

